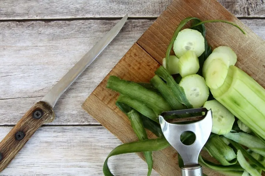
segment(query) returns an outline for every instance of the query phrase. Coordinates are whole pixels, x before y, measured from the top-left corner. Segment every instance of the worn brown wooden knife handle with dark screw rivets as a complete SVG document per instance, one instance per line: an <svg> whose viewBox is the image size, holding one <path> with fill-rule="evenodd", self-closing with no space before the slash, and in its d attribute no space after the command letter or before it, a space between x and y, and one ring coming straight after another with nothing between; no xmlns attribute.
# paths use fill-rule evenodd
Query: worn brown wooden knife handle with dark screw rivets
<svg viewBox="0 0 265 176"><path fill-rule="evenodd" d="M52 107L44 101L34 104L0 142L0 172L9 165L40 126L53 120Z"/></svg>

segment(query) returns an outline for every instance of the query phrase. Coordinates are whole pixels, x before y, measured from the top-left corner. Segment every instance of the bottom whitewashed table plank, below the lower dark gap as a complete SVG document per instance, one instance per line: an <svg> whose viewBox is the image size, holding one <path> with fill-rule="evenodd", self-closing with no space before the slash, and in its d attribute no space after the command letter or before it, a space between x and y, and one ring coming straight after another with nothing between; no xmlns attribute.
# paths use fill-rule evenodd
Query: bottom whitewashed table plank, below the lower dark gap
<svg viewBox="0 0 265 176"><path fill-rule="evenodd" d="M11 127L0 127L0 140ZM121 142L102 126L41 127L10 165L0 173L30 175L103 175L103 163ZM134 153L113 156L115 175L146 175L147 165ZM159 175L153 170L152 175Z"/></svg>

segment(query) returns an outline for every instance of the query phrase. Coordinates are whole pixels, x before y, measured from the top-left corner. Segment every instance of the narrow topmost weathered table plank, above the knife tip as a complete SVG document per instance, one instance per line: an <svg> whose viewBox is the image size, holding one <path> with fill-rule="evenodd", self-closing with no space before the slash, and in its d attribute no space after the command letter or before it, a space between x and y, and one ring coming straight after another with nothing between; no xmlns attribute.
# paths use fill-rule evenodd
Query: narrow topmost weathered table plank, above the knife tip
<svg viewBox="0 0 265 176"><path fill-rule="evenodd" d="M257 0L218 0L237 17L265 17L264 1ZM170 4L171 0L15 0L0 1L0 19L52 19L52 18L98 18L157 17ZM193 3L193 6L196 6ZM207 8L207 5L206 5Z"/></svg>

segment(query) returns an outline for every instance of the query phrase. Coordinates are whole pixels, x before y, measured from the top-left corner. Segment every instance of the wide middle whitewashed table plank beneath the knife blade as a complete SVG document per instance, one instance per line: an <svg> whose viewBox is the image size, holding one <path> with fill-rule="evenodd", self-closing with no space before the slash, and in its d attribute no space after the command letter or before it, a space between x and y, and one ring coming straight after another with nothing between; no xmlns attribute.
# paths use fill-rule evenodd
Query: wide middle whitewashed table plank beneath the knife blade
<svg viewBox="0 0 265 176"><path fill-rule="evenodd" d="M264 20L241 21L265 39ZM128 20L59 99L51 124L99 124L80 105L153 22ZM115 23L116 20L0 22L0 125L16 124Z"/></svg>

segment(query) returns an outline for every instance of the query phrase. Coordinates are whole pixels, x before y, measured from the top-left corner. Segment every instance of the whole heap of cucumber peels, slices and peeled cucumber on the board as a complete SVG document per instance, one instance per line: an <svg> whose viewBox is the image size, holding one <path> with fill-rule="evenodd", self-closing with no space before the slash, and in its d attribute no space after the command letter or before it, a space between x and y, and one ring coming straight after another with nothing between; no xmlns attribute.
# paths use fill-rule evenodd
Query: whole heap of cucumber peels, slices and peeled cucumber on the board
<svg viewBox="0 0 265 176"><path fill-rule="evenodd" d="M189 21L191 27L182 29ZM152 151L170 146L163 137L158 115L198 107L213 113L212 133L203 147L213 160L200 155L198 162L203 167L228 176L259 176L265 171L265 89L234 66L237 55L232 48L219 46L211 50L204 26L211 22L228 23L245 35L239 26L228 21L188 17L176 28L163 66L149 83L109 77L107 88L120 93L116 106L127 115L139 140L112 150L103 166L104 175L113 175L107 164L111 156L143 152L149 176ZM175 55L170 55L172 49ZM146 129L157 138L148 139ZM190 145L194 137L193 133L185 133L181 141ZM180 155L178 161L182 167Z"/></svg>

